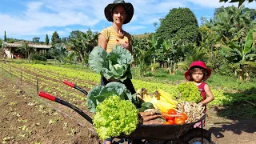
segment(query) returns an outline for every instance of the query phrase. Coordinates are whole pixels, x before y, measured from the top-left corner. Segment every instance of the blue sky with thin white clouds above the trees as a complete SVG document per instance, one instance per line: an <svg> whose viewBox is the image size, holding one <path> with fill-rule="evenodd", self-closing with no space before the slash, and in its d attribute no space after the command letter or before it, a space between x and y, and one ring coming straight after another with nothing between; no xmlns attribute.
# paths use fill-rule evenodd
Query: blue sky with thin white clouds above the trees
<svg viewBox="0 0 256 144"><path fill-rule="evenodd" d="M46 34L51 38L54 31L68 37L73 30L100 32L112 25L104 15L104 8L114 0L0 0L0 38L6 30L7 38L45 42ZM215 8L231 6L219 0L126 0L134 6L134 17L122 28L130 34L152 33L154 22L165 18L173 8L188 7L200 18L212 18ZM238 6L238 3L234 3ZM246 7L256 9L256 2L245 2Z"/></svg>

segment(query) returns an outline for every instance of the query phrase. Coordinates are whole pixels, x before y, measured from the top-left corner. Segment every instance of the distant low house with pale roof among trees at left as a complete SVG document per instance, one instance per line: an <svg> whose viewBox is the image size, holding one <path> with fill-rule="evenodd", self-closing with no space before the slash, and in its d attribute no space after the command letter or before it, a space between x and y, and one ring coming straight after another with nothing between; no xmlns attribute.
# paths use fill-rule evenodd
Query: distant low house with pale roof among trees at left
<svg viewBox="0 0 256 144"><path fill-rule="evenodd" d="M18 48L22 46L23 41L6 43L4 45L5 58L25 58L25 55L18 51ZM42 45L36 43L29 43L29 46L34 47L38 54L46 54L50 50L50 45Z"/></svg>

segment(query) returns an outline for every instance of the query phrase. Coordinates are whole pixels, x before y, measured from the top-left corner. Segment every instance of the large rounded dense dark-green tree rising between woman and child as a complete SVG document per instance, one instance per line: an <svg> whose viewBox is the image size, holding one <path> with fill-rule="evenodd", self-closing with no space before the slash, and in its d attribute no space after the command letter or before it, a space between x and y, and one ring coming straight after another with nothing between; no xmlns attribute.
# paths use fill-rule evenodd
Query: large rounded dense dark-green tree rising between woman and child
<svg viewBox="0 0 256 144"><path fill-rule="evenodd" d="M161 20L156 36L183 42L198 42L198 21L189 8L174 8Z"/></svg>

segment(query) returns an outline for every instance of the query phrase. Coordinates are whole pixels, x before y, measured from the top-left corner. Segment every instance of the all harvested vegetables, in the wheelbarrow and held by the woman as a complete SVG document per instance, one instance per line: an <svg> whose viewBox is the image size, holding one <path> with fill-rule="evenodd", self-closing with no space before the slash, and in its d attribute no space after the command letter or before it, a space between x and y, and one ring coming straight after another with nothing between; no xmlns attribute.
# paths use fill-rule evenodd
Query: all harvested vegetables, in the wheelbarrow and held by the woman
<svg viewBox="0 0 256 144"><path fill-rule="evenodd" d="M87 95L87 106L94 114L94 127L102 139L129 135L139 124L183 125L196 122L203 116L204 106L198 88L188 82L178 86L182 98L176 100L173 94L156 90L148 94L145 88L130 94L123 82L131 78L130 63L133 58L122 46L114 46L107 54L96 46L89 55L89 65L103 77L119 82L106 86L95 86Z"/></svg>

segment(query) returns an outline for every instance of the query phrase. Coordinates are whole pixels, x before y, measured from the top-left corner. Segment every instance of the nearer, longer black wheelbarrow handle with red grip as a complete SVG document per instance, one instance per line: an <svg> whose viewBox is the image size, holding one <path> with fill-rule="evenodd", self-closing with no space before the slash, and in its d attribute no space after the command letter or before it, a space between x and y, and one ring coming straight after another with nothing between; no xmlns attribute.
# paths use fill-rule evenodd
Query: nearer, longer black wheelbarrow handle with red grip
<svg viewBox="0 0 256 144"><path fill-rule="evenodd" d="M54 101L54 102L58 102L64 106L67 106L67 107L70 107L71 109L73 109L75 112L77 112L78 114L80 114L83 118L86 118L86 120L88 122L90 122L91 124L93 124L93 119L90 118L90 116L88 116L86 113L84 113L82 110L78 109L78 107L70 104L69 102L65 102L63 101L62 99L59 99L59 98L55 98L54 96L50 95L50 94L46 94L42 91L39 92L38 94L40 97L42 98L46 98L46 99L49 99L51 101Z"/></svg>

